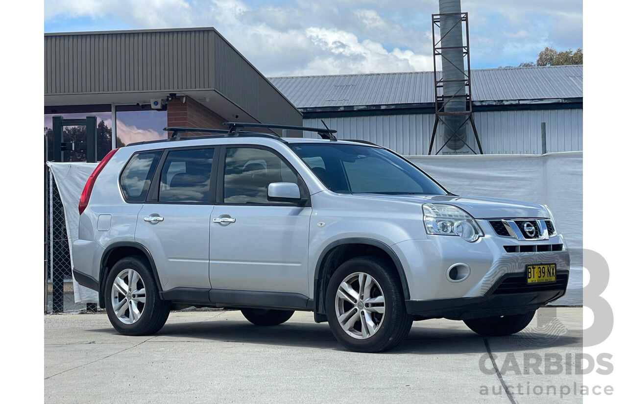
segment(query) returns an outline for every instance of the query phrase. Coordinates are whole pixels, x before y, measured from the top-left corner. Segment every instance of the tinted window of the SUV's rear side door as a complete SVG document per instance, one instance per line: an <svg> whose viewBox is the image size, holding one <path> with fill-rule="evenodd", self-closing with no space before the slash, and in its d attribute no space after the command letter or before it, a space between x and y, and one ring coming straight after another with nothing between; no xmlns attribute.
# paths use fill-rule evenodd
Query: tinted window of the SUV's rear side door
<svg viewBox="0 0 627 404"><path fill-rule="evenodd" d="M213 148L167 153L161 170L159 202L208 203Z"/></svg>

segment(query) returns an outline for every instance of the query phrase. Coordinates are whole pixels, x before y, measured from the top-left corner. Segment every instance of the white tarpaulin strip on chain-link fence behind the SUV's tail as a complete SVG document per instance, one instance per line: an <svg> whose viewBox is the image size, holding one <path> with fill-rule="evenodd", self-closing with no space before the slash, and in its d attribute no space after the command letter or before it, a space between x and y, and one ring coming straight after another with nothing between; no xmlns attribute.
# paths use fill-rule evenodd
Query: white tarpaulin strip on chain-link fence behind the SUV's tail
<svg viewBox="0 0 627 404"><path fill-rule="evenodd" d="M70 244L70 262L72 270L74 261L72 257L72 243L78 239L78 200L83 192L83 187L97 163L51 163L48 167L55 177L56 188L59 190L63 213L65 214L65 229L68 232L68 243ZM74 283L75 303L98 303L98 292Z"/></svg>

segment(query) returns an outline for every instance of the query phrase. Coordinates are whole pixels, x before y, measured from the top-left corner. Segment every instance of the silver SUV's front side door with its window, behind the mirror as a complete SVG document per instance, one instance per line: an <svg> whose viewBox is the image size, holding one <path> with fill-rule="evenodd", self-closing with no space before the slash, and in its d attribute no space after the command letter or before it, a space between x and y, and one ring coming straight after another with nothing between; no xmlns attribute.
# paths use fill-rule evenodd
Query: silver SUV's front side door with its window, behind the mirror
<svg viewBox="0 0 627 404"><path fill-rule="evenodd" d="M238 291L308 295L311 207L270 202L268 184L294 182L297 172L274 150L224 147L209 245L211 286ZM306 195L308 196L308 195Z"/></svg>

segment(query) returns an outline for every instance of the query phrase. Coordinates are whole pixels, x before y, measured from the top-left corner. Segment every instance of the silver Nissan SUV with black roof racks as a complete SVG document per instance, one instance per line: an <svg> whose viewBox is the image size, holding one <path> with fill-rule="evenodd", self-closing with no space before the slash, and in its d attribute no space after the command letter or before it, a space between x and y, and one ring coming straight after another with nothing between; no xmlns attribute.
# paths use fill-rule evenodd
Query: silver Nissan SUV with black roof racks
<svg viewBox="0 0 627 404"><path fill-rule="evenodd" d="M517 333L566 291L569 254L545 206L452 194L334 130L225 125L112 150L85 185L74 276L122 334L156 333L186 306L260 326L301 310L375 352L430 318Z"/></svg>

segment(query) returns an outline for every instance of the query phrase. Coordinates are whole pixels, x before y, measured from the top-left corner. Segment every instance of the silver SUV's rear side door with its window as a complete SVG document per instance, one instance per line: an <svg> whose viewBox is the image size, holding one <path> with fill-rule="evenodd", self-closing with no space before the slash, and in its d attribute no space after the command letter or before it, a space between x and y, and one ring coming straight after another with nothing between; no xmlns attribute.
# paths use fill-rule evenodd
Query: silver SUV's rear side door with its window
<svg viewBox="0 0 627 404"><path fill-rule="evenodd" d="M164 291L209 289L214 147L166 149L137 217L135 240L152 254Z"/></svg>

